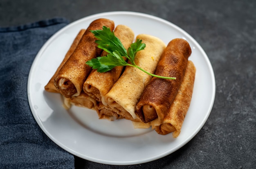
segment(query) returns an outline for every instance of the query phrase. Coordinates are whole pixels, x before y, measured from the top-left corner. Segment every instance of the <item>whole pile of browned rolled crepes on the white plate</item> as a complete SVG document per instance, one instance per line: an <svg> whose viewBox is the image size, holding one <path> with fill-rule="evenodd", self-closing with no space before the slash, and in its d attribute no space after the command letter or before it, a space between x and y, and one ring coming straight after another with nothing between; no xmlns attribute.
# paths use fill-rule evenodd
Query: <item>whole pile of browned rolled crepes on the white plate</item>
<svg viewBox="0 0 256 169"><path fill-rule="evenodd" d="M191 55L188 42L177 38L166 46L154 36L139 34L136 37L146 47L137 52L135 63L150 73L176 77L176 80L153 78L130 66L115 67L111 71L99 73L85 62L108 53L98 52L96 39L92 38L88 30L110 27L126 49L135 35L125 25L117 25L114 29L114 23L110 20L94 22L97 24L93 27L90 24L87 31L81 30L76 36L45 90L61 93L67 109L70 105L94 109L100 119L125 118L131 120L135 128L152 127L159 134L173 132L173 137L177 137L189 109L195 79L195 66L188 61ZM101 26L96 28L95 25ZM90 47L85 47L85 44ZM77 71L78 67L82 73Z"/></svg>

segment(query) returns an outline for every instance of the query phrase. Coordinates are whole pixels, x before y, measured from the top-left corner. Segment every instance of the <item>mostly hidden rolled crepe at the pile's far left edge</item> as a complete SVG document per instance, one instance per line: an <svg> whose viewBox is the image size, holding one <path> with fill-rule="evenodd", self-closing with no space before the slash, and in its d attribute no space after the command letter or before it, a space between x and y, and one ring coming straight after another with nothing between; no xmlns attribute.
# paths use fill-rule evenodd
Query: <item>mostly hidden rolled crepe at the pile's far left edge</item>
<svg viewBox="0 0 256 169"><path fill-rule="evenodd" d="M77 34L76 38L74 39L72 45L70 46L70 49L67 51L63 61L61 62L61 64L59 65L58 69L55 71L54 75L52 76L52 78L49 80L49 82L47 83L47 85L45 85L45 90L49 91L49 92L54 92L54 93L59 93L58 90L56 89L56 87L54 86L54 79L56 77L56 75L58 74L58 72L60 71L60 69L63 67L63 64L67 61L67 59L70 57L70 55L74 52L74 50L76 49L77 44L79 43L80 39L82 38L83 34L85 33L85 29L81 29L79 31L79 33Z"/></svg>

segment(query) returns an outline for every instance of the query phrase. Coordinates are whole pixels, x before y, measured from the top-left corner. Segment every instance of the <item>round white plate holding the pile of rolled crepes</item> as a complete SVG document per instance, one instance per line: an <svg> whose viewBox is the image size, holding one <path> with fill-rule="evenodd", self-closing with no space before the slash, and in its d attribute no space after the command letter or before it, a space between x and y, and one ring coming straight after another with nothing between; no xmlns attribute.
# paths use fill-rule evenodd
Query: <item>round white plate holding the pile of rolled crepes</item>
<svg viewBox="0 0 256 169"><path fill-rule="evenodd" d="M65 110L58 93L45 92L44 86L63 60L80 29L95 19L108 18L115 25L125 24L135 36L146 33L166 44L173 38L184 38L191 45L192 60L197 69L191 106L177 138L150 129L133 129L128 120L99 120L95 111L72 107ZM174 24L143 13L107 12L73 22L54 34L38 52L28 79L31 111L41 129L57 145L83 159L111 164L133 165L149 162L173 153L200 131L206 122L215 98L215 78L211 63L188 33Z"/></svg>

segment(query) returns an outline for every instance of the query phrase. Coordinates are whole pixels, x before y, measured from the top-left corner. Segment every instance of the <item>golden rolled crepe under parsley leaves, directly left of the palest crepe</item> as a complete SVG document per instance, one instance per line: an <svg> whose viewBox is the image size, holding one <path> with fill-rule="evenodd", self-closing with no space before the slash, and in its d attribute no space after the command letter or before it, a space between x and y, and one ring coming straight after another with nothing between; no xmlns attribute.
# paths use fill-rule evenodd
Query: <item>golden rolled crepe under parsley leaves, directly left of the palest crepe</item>
<svg viewBox="0 0 256 169"><path fill-rule="evenodd" d="M115 36L120 39L124 47L128 49L134 39L132 29L125 25L117 25L114 33ZM105 51L102 53L102 56L106 56L108 54ZM114 67L112 70L105 73L99 73L93 69L83 84L83 91L97 101L102 102L103 105L107 105L105 102L105 96L120 77L122 70L123 67L120 66Z"/></svg>

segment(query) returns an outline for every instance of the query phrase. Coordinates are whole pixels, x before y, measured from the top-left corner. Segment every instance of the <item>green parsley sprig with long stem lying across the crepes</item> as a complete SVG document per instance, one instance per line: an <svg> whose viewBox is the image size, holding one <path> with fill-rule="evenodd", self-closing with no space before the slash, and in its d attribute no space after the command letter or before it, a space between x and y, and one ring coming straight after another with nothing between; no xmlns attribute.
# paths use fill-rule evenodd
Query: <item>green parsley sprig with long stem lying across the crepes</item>
<svg viewBox="0 0 256 169"><path fill-rule="evenodd" d="M135 64L134 59L136 53L144 50L146 47L146 44L141 43L142 40L137 39L136 42L130 45L127 52L119 38L117 38L114 32L110 31L109 28L103 26L102 30L92 30L91 32L98 39L95 41L98 44L98 48L108 52L107 56L93 58L92 60L86 62L86 64L92 67L92 69L97 69L98 72L106 72L110 71L116 66L132 66L144 71L150 76L165 79L176 79L149 73ZM123 57L126 57L131 64L126 62Z"/></svg>

